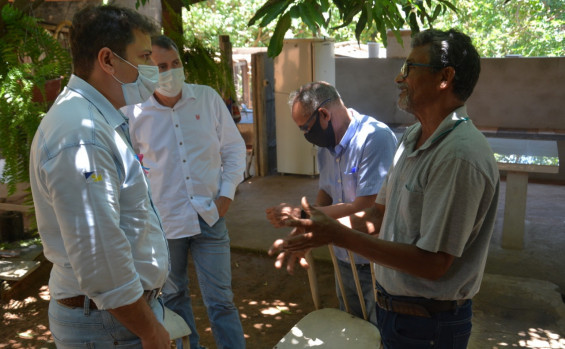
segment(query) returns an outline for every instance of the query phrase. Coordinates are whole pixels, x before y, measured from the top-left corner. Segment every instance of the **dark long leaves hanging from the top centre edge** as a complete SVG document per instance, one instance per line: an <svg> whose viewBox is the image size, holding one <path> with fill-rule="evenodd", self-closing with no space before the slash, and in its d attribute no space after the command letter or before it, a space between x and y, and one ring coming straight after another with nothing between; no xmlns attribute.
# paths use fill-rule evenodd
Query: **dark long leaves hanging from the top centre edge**
<svg viewBox="0 0 565 349"><path fill-rule="evenodd" d="M283 39L291 25L290 18L296 18L316 34L327 30L332 8L336 8L340 24L331 29L347 27L355 22L355 38L359 41L364 31L372 30L379 34L383 44L387 44L387 29L393 30L396 39L401 41L398 31L405 26L418 32L421 26L431 26L434 21L448 11L456 11L447 0L268 0L249 20L249 26L256 23L265 27L275 19L277 24L269 42L269 56L277 56ZM326 14L324 16L323 14ZM375 35L375 34L373 34Z"/></svg>

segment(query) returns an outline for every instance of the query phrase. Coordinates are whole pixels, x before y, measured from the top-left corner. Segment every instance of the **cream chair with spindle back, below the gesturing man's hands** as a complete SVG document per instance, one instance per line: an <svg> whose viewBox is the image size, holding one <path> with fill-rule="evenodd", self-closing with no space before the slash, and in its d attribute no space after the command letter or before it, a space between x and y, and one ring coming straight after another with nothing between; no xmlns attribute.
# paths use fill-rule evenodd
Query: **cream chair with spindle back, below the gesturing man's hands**
<svg viewBox="0 0 565 349"><path fill-rule="evenodd" d="M341 274L337 266L337 260L333 253L332 246L328 246L330 255L336 272L338 284L343 293L343 282ZM353 255L349 252L350 260L353 261ZM306 256L310 268L308 269L308 281L312 292L312 299L316 310L303 317L292 327L292 329L274 346L274 349L297 349L297 348L336 348L336 349L353 349L353 348L381 348L381 335L379 330L364 319L334 308L320 309L320 300L318 296L318 284L316 281L316 272L314 270L314 261L310 254ZM352 266L354 266L352 262ZM357 270L352 268L355 283L357 285L357 293L363 300L363 292L361 292ZM371 267L371 272L373 268ZM374 276L374 274L373 274ZM374 277L373 277L374 284ZM345 299L345 297L343 297ZM361 301L363 315L367 318L364 300ZM349 309L345 300L345 307Z"/></svg>

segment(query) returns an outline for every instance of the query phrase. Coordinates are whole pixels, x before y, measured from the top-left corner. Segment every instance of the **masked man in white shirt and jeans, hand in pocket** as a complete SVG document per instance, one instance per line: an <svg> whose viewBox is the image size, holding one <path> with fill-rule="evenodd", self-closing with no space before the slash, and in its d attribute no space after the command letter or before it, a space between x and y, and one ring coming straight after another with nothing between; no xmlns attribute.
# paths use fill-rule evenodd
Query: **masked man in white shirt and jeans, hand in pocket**
<svg viewBox="0 0 565 349"><path fill-rule="evenodd" d="M169 243L171 272L163 299L189 325L191 348L200 348L188 287L190 253L218 348L244 348L224 215L243 180L245 143L220 95L184 82L176 44L158 36L152 49L159 87L124 112Z"/></svg>

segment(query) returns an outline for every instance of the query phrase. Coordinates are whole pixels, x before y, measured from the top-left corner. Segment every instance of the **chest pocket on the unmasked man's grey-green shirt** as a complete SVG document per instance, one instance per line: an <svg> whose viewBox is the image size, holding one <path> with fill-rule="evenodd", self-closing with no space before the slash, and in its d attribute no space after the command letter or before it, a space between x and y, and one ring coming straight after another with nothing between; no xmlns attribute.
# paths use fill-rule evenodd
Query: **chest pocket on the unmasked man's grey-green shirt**
<svg viewBox="0 0 565 349"><path fill-rule="evenodd" d="M422 205L424 193L410 184L405 184L400 192L398 211L400 213L401 231L395 232L401 238L401 242L415 243L420 238L422 222Z"/></svg>

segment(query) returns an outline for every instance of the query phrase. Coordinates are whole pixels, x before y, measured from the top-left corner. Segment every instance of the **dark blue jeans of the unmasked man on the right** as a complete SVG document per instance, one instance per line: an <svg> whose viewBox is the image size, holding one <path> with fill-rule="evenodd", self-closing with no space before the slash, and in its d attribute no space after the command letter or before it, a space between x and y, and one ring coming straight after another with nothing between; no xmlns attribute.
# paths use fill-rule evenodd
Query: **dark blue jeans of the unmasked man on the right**
<svg viewBox="0 0 565 349"><path fill-rule="evenodd" d="M394 297L409 300L412 297ZM377 307L377 327L385 349L465 349L471 336L473 302L431 317L386 311Z"/></svg>

